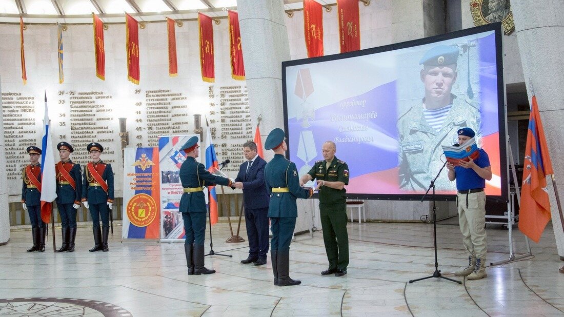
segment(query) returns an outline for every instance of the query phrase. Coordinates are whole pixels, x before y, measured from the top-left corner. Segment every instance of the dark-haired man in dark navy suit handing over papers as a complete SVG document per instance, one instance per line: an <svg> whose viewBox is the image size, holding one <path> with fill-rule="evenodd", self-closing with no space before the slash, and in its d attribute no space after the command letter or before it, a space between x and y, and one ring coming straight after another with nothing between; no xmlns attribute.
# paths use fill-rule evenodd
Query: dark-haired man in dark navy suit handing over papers
<svg viewBox="0 0 564 317"><path fill-rule="evenodd" d="M243 190L245 225L249 238L249 257L243 264L266 264L268 252L268 201L270 194L265 186L266 161L257 154L257 144L248 141L243 144L246 162L239 166L239 174L233 187Z"/></svg>

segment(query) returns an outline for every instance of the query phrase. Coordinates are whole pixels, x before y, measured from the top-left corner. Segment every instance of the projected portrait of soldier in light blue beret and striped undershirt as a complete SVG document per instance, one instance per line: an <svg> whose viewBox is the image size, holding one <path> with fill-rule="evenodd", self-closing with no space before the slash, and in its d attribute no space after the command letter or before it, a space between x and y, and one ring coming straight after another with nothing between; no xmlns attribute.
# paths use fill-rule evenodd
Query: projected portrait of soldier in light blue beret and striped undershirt
<svg viewBox="0 0 564 317"><path fill-rule="evenodd" d="M451 93L457 80L460 50L439 45L427 51L419 61L425 97L399 113L399 187L405 191L424 191L443 165L440 146L456 143L456 131L462 127L478 130L480 107L472 100ZM480 133L478 133L480 135ZM446 177L439 177L437 190L454 190Z"/></svg>

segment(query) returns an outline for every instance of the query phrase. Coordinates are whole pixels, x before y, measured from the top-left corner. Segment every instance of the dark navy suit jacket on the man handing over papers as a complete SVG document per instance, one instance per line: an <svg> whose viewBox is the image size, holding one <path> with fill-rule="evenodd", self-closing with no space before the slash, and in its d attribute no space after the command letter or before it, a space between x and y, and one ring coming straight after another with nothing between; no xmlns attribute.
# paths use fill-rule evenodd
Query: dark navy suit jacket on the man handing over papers
<svg viewBox="0 0 564 317"><path fill-rule="evenodd" d="M246 171L248 164L249 162L244 162L239 166L239 174L235 178L235 182L243 182L245 209L268 208L270 194L265 186L266 161L257 156L249 171Z"/></svg>

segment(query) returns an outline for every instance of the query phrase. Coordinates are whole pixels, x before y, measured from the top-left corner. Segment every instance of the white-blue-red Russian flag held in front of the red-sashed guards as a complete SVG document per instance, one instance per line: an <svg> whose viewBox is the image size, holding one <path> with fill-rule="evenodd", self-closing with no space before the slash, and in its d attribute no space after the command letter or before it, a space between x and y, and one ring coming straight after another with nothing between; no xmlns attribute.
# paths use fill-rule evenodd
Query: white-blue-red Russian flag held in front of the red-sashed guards
<svg viewBox="0 0 564 317"><path fill-rule="evenodd" d="M45 223L51 222L51 202L56 197L55 184L55 153L49 127L49 112L47 112L47 93L45 93L45 117L43 118L43 139L41 142L41 219Z"/></svg>

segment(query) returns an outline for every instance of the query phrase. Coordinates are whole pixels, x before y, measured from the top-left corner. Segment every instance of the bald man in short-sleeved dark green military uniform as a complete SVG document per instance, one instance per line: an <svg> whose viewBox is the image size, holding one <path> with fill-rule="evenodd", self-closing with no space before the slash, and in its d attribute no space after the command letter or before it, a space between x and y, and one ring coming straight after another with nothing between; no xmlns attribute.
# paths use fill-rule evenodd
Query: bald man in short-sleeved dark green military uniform
<svg viewBox="0 0 564 317"><path fill-rule="evenodd" d="M347 234L347 205L345 185L349 184L349 166L335 157L335 143L327 141L321 147L324 160L316 161L302 184L317 179L319 210L323 227L323 243L329 260L329 268L321 275L347 274L349 265L349 235Z"/></svg>

